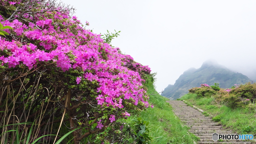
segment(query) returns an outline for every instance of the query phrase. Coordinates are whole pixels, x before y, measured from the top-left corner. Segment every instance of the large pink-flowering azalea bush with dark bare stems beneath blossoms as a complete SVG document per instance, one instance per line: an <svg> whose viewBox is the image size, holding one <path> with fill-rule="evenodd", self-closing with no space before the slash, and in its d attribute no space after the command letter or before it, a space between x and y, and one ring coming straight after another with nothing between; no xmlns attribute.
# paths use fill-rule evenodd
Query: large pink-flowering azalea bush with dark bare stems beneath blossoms
<svg viewBox="0 0 256 144"><path fill-rule="evenodd" d="M0 39L2 132L35 121L33 137L58 135L65 124L78 128L72 135L79 143L149 106L142 77L150 68L86 29L72 7L55 0L13 0L1 1L0 9L0 23L13 28L3 29L9 35ZM8 131L0 139L10 136L15 138Z"/></svg>

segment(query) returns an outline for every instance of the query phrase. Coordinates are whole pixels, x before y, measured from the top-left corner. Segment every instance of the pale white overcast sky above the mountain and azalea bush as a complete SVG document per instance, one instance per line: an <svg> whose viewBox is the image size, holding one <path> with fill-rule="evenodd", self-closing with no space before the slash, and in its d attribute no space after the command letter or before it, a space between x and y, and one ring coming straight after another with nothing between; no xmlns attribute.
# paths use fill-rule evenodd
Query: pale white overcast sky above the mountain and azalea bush
<svg viewBox="0 0 256 144"><path fill-rule="evenodd" d="M62 2L74 6L74 15L94 33L121 31L112 45L157 72L158 92L208 59L256 77L255 0Z"/></svg>

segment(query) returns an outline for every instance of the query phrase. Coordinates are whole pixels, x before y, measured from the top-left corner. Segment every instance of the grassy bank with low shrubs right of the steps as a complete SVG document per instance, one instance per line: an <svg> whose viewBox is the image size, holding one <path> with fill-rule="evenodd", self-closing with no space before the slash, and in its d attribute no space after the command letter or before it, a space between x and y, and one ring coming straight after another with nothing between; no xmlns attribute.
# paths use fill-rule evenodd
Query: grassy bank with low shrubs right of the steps
<svg viewBox="0 0 256 144"><path fill-rule="evenodd" d="M247 83L222 89L201 84L178 100L186 100L212 116L224 128L238 134L256 136L256 84Z"/></svg>

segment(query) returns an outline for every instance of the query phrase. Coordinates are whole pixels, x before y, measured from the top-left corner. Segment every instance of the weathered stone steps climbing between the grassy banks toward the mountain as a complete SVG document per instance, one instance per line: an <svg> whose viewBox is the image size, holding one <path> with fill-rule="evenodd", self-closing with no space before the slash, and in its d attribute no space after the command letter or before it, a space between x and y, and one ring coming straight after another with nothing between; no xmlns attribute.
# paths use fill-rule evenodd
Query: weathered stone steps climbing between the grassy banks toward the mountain
<svg viewBox="0 0 256 144"><path fill-rule="evenodd" d="M232 131L227 131L218 126L218 123L212 121L210 117L206 117L199 110L187 106L183 101L166 101L172 105L173 112L179 119L185 122L187 127L190 127L189 132L200 138L197 141L198 144L210 144L210 143L226 143L226 144L248 144L251 142L239 141L239 140L223 140L221 142L212 140L212 134L232 134Z"/></svg>

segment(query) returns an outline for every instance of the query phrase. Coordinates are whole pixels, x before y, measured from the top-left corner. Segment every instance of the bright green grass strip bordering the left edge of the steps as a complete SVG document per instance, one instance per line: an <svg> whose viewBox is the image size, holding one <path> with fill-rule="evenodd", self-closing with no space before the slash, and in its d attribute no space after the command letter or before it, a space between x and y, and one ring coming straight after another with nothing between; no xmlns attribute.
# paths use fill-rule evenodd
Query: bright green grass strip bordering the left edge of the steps
<svg viewBox="0 0 256 144"><path fill-rule="evenodd" d="M146 86L148 94L156 94L152 77L148 77ZM192 138L187 134L186 127L183 127L173 111L172 107L166 103L167 98L156 94L150 95L149 103L153 103L154 108L148 108L140 113L145 121L150 122L150 136L153 137L152 144L156 143L193 143Z"/></svg>

